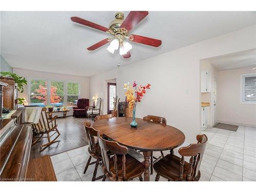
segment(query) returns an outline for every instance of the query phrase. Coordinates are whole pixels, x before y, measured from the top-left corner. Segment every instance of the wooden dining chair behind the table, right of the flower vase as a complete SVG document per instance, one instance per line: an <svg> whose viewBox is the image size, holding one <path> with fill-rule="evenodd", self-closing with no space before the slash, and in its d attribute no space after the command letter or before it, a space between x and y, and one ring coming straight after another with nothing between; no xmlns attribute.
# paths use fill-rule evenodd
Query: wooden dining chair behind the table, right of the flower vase
<svg viewBox="0 0 256 192"><path fill-rule="evenodd" d="M153 122L157 122L157 123L161 123L163 124L163 126L166 126L166 119L164 117L159 117L159 116L155 116L155 115L147 115L145 117L143 117L144 121L153 121ZM151 175L153 174L153 164L154 162L158 161L159 159L161 159L164 156L163 152L161 151L161 156L156 158L155 156L153 156L153 152L151 153ZM154 161L155 159L155 161Z"/></svg>

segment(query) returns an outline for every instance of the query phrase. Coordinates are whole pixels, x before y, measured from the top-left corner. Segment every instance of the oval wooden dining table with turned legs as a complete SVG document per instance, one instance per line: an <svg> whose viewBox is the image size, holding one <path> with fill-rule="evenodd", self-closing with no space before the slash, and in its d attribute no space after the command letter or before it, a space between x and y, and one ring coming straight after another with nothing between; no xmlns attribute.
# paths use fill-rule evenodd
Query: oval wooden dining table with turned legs
<svg viewBox="0 0 256 192"><path fill-rule="evenodd" d="M155 151L170 150L185 141L185 135L177 128L153 121L136 118L136 128L132 128L130 117L101 119L93 124L94 129L127 148L140 150L144 155L144 181L150 181L150 157Z"/></svg>

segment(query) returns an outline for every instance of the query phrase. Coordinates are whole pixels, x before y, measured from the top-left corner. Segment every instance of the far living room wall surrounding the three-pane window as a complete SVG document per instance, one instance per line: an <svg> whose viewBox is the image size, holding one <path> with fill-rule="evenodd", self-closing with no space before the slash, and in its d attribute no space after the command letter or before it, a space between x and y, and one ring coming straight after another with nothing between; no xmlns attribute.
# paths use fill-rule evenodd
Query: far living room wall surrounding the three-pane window
<svg viewBox="0 0 256 192"><path fill-rule="evenodd" d="M90 99L90 78L89 77L81 77L81 76L73 76L73 75L62 75L56 73L46 73L39 71L30 71L30 70L22 70L22 69L13 69L13 73L16 73L20 76L25 77L28 81L29 78L42 78L42 79L50 79L50 80L60 80L60 81L76 81L80 82L80 97ZM25 86L24 92L19 93L18 97L29 99L29 90L28 86Z"/></svg>

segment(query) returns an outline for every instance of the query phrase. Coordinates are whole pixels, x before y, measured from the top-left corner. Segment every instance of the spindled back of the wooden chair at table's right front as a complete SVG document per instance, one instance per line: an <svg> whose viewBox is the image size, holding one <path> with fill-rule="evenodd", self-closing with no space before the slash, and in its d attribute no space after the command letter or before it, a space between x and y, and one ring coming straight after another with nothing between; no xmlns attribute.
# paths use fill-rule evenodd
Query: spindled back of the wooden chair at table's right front
<svg viewBox="0 0 256 192"><path fill-rule="evenodd" d="M190 181L191 179L196 178L198 175L199 167L201 165L208 139L207 136L203 134L197 135L197 140L198 143L193 143L179 149L179 154L182 156L180 161L180 180L182 180L183 177L184 156L191 156L189 159L189 167L186 174L186 180Z"/></svg>

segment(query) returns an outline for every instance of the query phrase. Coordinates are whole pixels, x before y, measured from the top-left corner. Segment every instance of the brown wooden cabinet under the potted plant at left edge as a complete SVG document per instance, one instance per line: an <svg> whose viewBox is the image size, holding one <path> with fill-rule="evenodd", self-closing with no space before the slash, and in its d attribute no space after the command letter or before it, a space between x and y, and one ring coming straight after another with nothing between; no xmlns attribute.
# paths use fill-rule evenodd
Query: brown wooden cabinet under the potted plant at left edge
<svg viewBox="0 0 256 192"><path fill-rule="evenodd" d="M3 106L15 110L15 100L18 94L15 82L12 78L7 77L1 77L1 82L8 84L3 88Z"/></svg>

